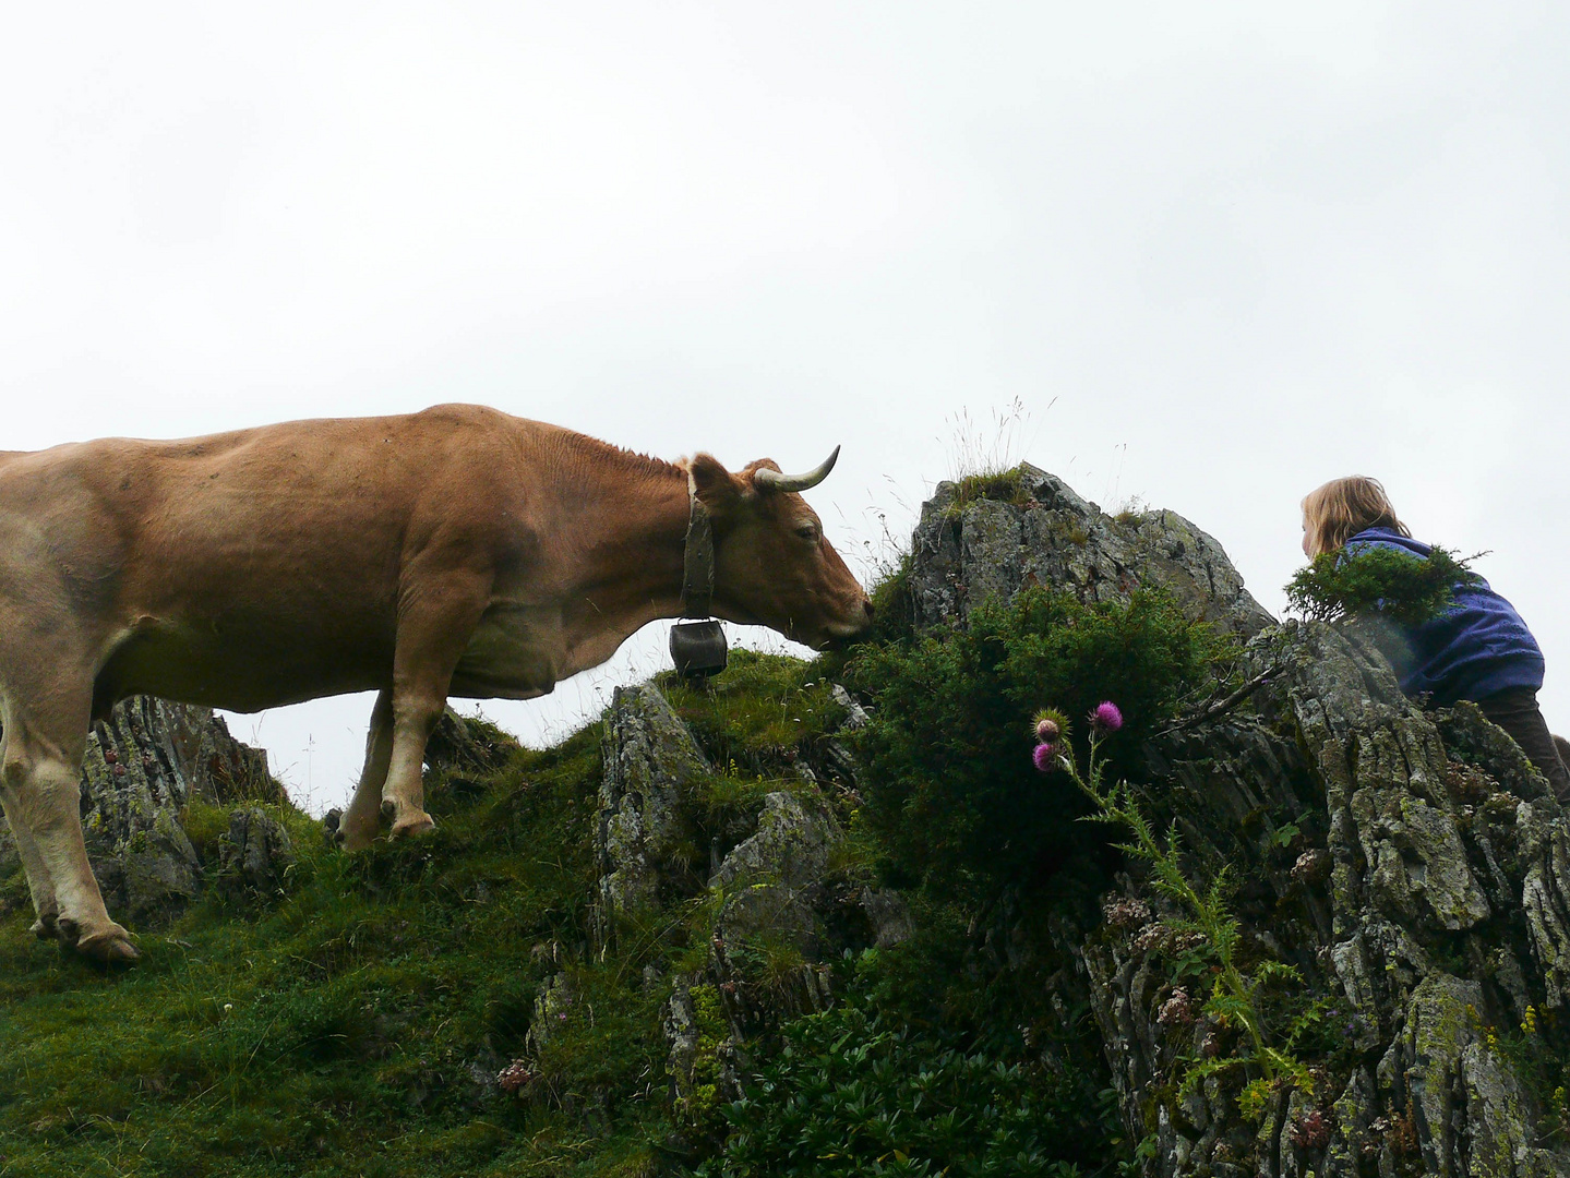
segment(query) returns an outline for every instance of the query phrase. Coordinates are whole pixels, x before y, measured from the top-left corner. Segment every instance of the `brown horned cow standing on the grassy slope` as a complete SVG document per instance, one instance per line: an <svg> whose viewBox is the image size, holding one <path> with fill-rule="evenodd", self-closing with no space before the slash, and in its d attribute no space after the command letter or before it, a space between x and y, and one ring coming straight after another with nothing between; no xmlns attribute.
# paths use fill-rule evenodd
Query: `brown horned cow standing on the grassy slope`
<svg viewBox="0 0 1570 1178"><path fill-rule="evenodd" d="M133 958L82 845L91 722L135 693L240 712L375 689L349 849L432 825L449 696L528 700L683 612L689 519L713 612L823 646L871 605L768 460L670 464L495 409L289 422L0 455L0 798L41 936Z"/></svg>

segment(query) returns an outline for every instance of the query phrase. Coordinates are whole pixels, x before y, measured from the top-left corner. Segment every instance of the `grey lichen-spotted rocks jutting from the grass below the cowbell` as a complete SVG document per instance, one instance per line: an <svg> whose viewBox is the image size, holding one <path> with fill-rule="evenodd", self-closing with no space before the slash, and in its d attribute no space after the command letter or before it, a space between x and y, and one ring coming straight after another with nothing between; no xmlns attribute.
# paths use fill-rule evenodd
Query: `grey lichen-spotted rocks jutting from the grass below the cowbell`
<svg viewBox="0 0 1570 1178"><path fill-rule="evenodd" d="M843 689L834 698L845 729L865 723ZM896 894L835 885L845 834L823 789L846 787L851 753L832 733L820 745L821 781L809 758L793 761L799 781L725 819L717 838L710 813L716 772L658 687L619 689L606 715L597 940L606 944L655 907L688 903L706 913L703 965L648 979L667 994L667 1074L680 1107L738 1096L757 1032L827 1004L826 962L843 949L846 911L860 943L896 944L911 935ZM565 1001L559 987L553 980L540 991L535 1024L543 1035L551 1004ZM535 1051L542 1045L531 1043Z"/></svg>

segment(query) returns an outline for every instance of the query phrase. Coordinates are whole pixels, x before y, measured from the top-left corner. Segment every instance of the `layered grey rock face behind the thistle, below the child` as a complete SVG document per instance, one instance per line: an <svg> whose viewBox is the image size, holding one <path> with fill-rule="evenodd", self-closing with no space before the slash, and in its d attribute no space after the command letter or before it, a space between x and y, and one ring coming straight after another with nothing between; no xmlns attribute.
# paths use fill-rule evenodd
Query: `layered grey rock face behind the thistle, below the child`
<svg viewBox="0 0 1570 1178"><path fill-rule="evenodd" d="M1287 624L1253 654L1281 668L1262 715L1159 740L1165 773L1138 792L1181 816L1196 872L1243 882L1248 952L1298 969L1341 1042L1300 1051L1313 1087L1278 1085L1259 1120L1240 1115L1240 1068L1174 1096L1184 1060L1237 1031L1171 1016L1174 913L1134 880L1148 916L1093 930L1077 954L1154 1172L1570 1173L1518 1057L1524 1029L1565 1004L1570 860L1546 783L1474 706L1410 704L1353 637ZM1292 817L1302 830L1283 838Z"/></svg>

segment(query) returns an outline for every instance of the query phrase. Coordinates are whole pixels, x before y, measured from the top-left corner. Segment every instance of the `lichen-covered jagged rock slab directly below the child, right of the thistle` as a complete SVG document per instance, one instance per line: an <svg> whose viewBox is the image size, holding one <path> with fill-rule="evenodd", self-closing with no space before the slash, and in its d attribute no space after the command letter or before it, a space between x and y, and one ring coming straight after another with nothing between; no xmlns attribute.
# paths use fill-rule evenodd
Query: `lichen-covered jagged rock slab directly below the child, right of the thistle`
<svg viewBox="0 0 1570 1178"><path fill-rule="evenodd" d="M1286 667L1276 698L1325 791L1327 980L1377 1056L1369 1126L1405 1118L1429 1173L1570 1173L1570 1147L1539 1134L1548 1093L1498 1032L1531 1040L1539 1012L1565 1012L1567 828L1546 783L1518 750L1470 762L1502 733L1470 704L1424 714L1355 638L1289 626L1262 657ZM1338 1156L1391 1148L1361 1120L1338 1128Z"/></svg>

